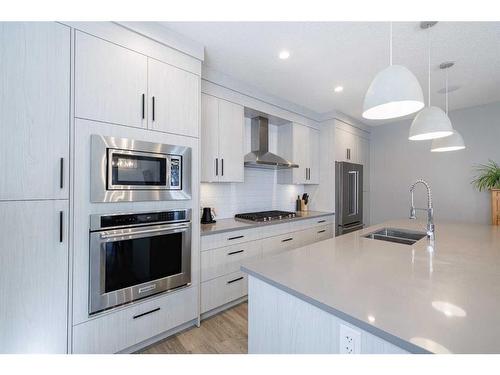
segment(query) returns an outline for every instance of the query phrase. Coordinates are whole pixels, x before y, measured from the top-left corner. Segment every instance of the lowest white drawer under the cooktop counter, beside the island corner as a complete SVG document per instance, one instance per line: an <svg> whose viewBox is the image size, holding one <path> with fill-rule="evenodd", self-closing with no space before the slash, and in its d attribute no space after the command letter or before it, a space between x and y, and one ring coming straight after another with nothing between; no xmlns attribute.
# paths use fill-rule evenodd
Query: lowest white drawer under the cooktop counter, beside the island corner
<svg viewBox="0 0 500 375"><path fill-rule="evenodd" d="M247 275L241 271L201 283L201 312L247 295Z"/></svg>

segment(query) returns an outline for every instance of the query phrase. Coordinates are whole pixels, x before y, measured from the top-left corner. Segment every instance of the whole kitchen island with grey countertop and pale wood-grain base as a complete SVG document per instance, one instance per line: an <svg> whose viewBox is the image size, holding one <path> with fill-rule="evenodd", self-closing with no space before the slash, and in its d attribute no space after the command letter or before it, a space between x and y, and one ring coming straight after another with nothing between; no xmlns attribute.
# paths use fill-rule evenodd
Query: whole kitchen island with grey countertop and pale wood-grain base
<svg viewBox="0 0 500 375"><path fill-rule="evenodd" d="M500 353L500 227L397 220L247 263L249 353ZM342 336L342 337L341 337Z"/></svg>

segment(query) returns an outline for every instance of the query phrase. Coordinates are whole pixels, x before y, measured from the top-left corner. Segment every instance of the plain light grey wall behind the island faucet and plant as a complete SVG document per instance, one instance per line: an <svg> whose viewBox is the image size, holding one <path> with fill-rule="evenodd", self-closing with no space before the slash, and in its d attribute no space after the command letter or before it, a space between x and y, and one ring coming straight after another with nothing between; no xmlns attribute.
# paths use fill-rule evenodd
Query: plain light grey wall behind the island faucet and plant
<svg viewBox="0 0 500 375"><path fill-rule="evenodd" d="M450 119L465 140L465 150L431 153L431 141L409 141L411 120L373 128L372 223L408 217L409 186L418 178L431 186L436 220L490 222L490 195L476 191L470 182L475 164L500 161L500 103L453 111ZM417 187L418 207L425 207L424 190Z"/></svg>

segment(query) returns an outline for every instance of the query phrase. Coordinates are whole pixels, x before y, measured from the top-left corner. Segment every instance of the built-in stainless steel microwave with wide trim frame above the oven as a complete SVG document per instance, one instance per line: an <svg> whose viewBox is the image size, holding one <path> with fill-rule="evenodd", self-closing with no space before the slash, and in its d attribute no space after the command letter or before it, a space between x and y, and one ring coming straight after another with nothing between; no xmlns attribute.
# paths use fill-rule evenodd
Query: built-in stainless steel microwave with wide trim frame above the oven
<svg viewBox="0 0 500 375"><path fill-rule="evenodd" d="M191 148L91 137L92 202L191 199Z"/></svg>

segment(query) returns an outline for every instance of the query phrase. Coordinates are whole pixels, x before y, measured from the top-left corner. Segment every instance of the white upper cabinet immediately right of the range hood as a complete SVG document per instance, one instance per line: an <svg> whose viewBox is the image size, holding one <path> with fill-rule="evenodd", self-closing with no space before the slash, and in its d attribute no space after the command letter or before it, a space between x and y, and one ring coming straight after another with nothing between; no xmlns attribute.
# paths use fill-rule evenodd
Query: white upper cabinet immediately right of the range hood
<svg viewBox="0 0 500 375"><path fill-rule="evenodd" d="M319 131L291 123L278 127L278 155L298 164L298 168L278 173L280 184L319 183Z"/></svg>

